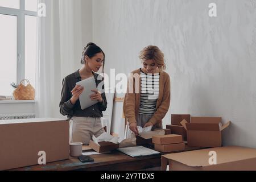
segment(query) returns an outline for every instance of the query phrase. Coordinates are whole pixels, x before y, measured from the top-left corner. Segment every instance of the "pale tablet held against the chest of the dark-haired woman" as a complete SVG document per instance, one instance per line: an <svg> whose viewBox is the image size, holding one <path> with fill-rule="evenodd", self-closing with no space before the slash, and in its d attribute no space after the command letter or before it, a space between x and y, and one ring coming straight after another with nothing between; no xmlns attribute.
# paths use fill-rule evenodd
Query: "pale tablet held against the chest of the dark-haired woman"
<svg viewBox="0 0 256 182"><path fill-rule="evenodd" d="M89 77L89 78L86 78L85 80L79 81L76 83L76 85L81 85L84 87L84 90L79 96L79 101L80 101L82 110L98 103L97 100L96 101L90 100L90 95L95 93L95 92L92 92L91 90L97 90L94 77Z"/></svg>

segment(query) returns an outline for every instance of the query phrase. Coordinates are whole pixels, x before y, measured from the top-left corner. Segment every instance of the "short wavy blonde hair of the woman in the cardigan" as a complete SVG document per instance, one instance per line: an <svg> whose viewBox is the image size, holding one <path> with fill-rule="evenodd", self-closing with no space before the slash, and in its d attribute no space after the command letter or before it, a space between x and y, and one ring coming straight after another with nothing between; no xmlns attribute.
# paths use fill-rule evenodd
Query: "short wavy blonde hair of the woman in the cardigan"
<svg viewBox="0 0 256 182"><path fill-rule="evenodd" d="M154 60L155 64L158 65L159 70L162 72L166 70L166 63L164 61L164 53L157 46L147 46L142 49L139 59Z"/></svg>

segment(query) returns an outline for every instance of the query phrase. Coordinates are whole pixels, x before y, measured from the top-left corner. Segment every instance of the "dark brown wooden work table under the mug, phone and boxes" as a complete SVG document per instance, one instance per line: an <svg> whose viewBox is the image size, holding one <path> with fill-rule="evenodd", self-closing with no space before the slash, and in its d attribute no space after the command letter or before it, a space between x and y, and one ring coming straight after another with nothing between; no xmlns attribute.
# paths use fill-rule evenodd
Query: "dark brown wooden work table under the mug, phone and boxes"
<svg viewBox="0 0 256 182"><path fill-rule="evenodd" d="M150 147L151 148L151 147ZM199 150L202 147L188 147L184 151ZM108 154L90 155L94 162L81 163L79 159L70 157L67 160L52 162L46 165L36 165L30 167L17 168L18 171L68 171L68 170L93 170L93 171L121 171L121 170L141 170L161 166L161 153L159 155L140 156L132 158L117 150Z"/></svg>

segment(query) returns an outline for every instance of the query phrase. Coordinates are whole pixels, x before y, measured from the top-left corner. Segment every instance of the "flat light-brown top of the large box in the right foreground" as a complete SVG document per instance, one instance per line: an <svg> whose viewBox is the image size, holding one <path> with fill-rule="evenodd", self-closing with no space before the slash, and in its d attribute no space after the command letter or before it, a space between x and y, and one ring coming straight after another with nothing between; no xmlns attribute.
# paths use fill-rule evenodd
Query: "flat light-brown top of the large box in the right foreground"
<svg viewBox="0 0 256 182"><path fill-rule="evenodd" d="M164 158L175 160L179 163L191 167L210 166L209 160L212 156L210 151L217 154L217 164L230 163L238 160L256 158L255 148L245 148L238 146L207 148L203 150L195 150L188 152L180 152L175 154L163 155Z"/></svg>

